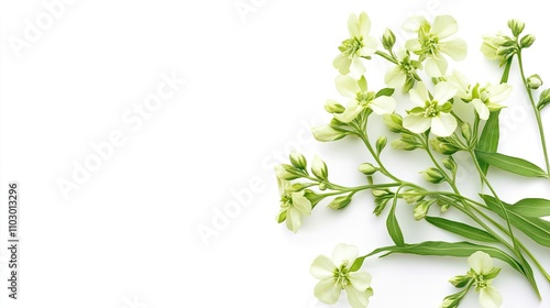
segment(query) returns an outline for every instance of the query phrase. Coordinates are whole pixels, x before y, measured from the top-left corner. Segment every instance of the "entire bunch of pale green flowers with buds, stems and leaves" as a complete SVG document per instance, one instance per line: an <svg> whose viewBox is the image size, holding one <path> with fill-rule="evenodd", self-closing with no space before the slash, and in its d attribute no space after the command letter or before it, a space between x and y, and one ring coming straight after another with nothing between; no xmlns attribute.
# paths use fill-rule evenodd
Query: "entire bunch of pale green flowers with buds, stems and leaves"
<svg viewBox="0 0 550 308"><path fill-rule="evenodd" d="M503 76L496 81L471 82L459 70L450 68L453 62L465 59L468 51L466 42L455 35L459 25L454 18L440 15L428 21L422 16L413 16L403 29L410 34L403 46L397 46L396 36L389 29L384 31L378 44L370 34L371 20L366 13L349 18L350 37L342 42L340 54L333 61L339 73L336 88L346 102L327 100L324 110L331 120L312 128L318 141L355 138L365 145L369 157L358 166L358 170L366 184L354 187L334 184L329 179L328 166L322 160L315 156L308 166L306 157L293 153L290 164L275 168L280 195L277 222L286 222L286 227L296 233L304 218L324 199L331 199L328 202L330 209L342 210L352 202L355 194L365 190L373 196L374 215L387 215L387 233L393 245L359 256L356 248L339 244L332 258L321 255L314 261L311 275L320 279L314 292L319 300L327 304L336 304L340 293L345 290L352 307L366 307L373 295L371 275L360 268L367 257L381 253L382 256L394 253L469 256L471 270L466 275L451 279L452 285L461 290L444 298L441 304L444 308L459 307L472 288L480 294L483 308L502 305L503 298L492 285L501 271L493 266L493 257L516 270L538 294L531 264L549 282L550 274L515 234L519 231L538 244L550 248L550 221L542 219L550 216L550 200L525 198L514 205L507 204L499 198L488 176L490 168L499 168L516 176L550 178L541 120L542 109L550 105L550 89L540 90L536 101L535 94L543 85L542 78L538 74L526 77L522 65L522 52L534 44L535 36L522 35L525 23L519 20L508 22L510 35L501 32L485 36L481 52L488 59L498 62ZM383 78L386 88L372 89L369 86L366 64L374 57L388 62ZM517 59L520 80L537 119L546 170L524 158L497 152L499 111L507 106L513 91L507 81L514 58ZM396 90L400 94L397 95ZM372 117L381 117L388 130L386 132L395 134L392 142L386 135L378 135L375 141L371 138L373 130L369 125ZM432 166L419 172L424 182L403 179L389 169L383 161L387 144L398 151L425 152ZM477 172L469 184L486 187L490 195L469 197L461 193L462 187L457 180L459 164L454 158L458 152L466 155L471 167ZM408 243L396 213L400 205L411 208L410 215L415 220L426 221L462 240ZM444 217L451 209L464 219Z"/></svg>

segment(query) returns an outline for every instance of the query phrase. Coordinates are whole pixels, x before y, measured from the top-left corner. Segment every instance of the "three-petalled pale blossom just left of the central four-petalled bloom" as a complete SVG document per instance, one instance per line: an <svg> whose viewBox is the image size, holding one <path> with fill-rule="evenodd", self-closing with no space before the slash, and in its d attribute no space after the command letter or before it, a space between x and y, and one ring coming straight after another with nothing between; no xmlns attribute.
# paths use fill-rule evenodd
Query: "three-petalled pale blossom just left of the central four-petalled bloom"
<svg viewBox="0 0 550 308"><path fill-rule="evenodd" d="M361 111L371 109L376 114L393 113L395 110L395 99L387 96L376 97L376 94L369 91L365 77L355 80L350 76L337 77L338 91L351 101L342 113L334 113L334 119L349 123L353 121Z"/></svg>

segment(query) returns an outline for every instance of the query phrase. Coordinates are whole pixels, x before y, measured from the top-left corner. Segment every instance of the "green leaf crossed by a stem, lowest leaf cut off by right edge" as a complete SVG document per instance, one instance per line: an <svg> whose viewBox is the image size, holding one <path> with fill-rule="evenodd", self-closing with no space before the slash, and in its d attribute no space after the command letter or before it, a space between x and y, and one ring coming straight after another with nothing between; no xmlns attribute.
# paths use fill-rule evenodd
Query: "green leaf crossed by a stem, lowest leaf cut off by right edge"
<svg viewBox="0 0 550 308"><path fill-rule="evenodd" d="M504 212L498 206L498 201L494 197L488 195L481 195L481 197L492 211L504 218ZM512 226L516 227L527 237L531 238L535 242L550 248L550 221L536 217L534 218L521 216L510 210L514 206L507 205L505 202L503 202L503 205L508 212L508 218L510 219Z"/></svg>

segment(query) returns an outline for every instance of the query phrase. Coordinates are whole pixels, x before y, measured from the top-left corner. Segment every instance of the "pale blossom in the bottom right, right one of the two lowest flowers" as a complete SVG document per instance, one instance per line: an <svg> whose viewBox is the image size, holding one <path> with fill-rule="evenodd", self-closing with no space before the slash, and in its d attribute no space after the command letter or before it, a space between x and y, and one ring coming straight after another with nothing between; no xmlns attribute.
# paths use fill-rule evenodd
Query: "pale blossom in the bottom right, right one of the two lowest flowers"
<svg viewBox="0 0 550 308"><path fill-rule="evenodd" d="M482 308L498 308L503 304L503 297L498 290L491 285L498 275L501 268L493 267L493 258L484 252L475 252L468 258L471 270L469 276L474 279L475 290L480 293L480 306Z"/></svg>

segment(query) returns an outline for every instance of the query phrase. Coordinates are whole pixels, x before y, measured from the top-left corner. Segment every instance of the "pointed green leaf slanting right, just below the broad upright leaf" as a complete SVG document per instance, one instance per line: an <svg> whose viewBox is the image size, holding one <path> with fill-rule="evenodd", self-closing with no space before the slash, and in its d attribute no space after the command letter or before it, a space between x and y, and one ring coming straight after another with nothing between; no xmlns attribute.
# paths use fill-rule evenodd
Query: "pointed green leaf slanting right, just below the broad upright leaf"
<svg viewBox="0 0 550 308"><path fill-rule="evenodd" d="M483 152L480 150L475 150L475 156L479 161L485 162L505 172L528 177L548 178L548 175L544 170L542 170L534 163L527 162L522 158L513 157L499 153Z"/></svg>

